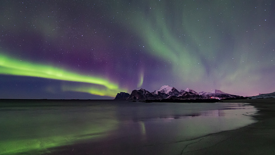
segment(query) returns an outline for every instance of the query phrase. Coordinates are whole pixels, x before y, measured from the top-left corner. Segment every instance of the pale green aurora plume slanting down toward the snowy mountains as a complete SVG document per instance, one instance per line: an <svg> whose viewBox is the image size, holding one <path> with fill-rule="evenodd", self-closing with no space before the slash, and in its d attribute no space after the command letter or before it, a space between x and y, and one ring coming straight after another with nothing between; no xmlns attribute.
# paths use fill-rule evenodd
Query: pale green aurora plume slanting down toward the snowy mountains
<svg viewBox="0 0 275 155"><path fill-rule="evenodd" d="M121 3L124 2L119 1L119 3L112 3L112 5L117 8L115 12L119 12L118 10L121 9ZM132 2L132 5L138 5L133 3L135 2ZM198 57L197 54L192 53L193 51L190 50L189 47L186 47L187 43L183 42L183 39L179 37L180 34L177 34L183 33L180 31L186 28L185 23L188 22L184 18L186 12L184 12L183 7L178 6L178 8L175 9L176 12L183 14L183 16L179 15L177 19L176 17L170 19L167 14L162 12L162 10L167 8L168 3L162 2L156 5L155 1L146 0L143 0L143 3L147 3L147 5L136 8L132 13L124 14L123 12L127 12L128 8L122 7L123 11L116 14L120 20L123 21L123 19L127 18L127 20L130 21L122 23L144 40L147 44L145 47L151 55L171 65L171 69L176 77L181 77L183 81L199 81L200 77L206 74L204 66L201 65L201 58ZM126 3L123 5L127 6ZM183 11L181 12L181 10ZM193 30L192 32L196 31L197 30ZM186 33L186 35L188 34ZM192 44L194 42L195 44L199 44L198 42L201 40L194 38L192 41ZM199 52L205 53L205 50L205 48L202 50L199 49ZM214 55L214 53L211 55Z"/></svg>

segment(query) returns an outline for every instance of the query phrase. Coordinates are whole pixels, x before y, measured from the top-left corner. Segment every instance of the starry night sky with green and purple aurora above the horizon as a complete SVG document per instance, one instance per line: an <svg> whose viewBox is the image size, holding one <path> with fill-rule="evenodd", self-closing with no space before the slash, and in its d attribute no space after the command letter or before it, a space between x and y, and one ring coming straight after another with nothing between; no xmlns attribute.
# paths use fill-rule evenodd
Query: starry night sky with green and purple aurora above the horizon
<svg viewBox="0 0 275 155"><path fill-rule="evenodd" d="M0 0L0 98L275 91L274 0Z"/></svg>

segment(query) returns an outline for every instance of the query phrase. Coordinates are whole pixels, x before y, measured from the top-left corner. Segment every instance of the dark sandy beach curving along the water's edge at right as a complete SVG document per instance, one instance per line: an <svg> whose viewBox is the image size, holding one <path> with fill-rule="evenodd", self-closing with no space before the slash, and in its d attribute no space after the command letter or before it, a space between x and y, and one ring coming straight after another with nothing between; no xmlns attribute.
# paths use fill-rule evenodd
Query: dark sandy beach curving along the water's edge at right
<svg viewBox="0 0 275 155"><path fill-rule="evenodd" d="M182 155L275 155L275 99L224 102L250 103L259 110L258 122L194 140Z"/></svg>

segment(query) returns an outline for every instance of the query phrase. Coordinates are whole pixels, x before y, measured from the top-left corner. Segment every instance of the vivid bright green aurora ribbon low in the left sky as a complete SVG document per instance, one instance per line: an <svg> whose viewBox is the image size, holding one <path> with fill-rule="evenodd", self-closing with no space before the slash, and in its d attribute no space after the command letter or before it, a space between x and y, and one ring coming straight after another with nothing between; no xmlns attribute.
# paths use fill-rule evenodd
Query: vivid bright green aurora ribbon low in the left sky
<svg viewBox="0 0 275 155"><path fill-rule="evenodd" d="M114 97L117 92L127 92L125 89L120 89L117 84L109 82L107 79L80 75L75 72L70 72L65 69L60 69L54 66L43 65L38 63L26 62L8 57L0 53L0 74L15 75L15 76L30 76L38 78L47 78L55 80L64 80L72 82L82 82L104 86L104 89L96 87L76 87L75 89L63 89L64 91L85 92L93 95L111 96ZM86 86L87 87L87 86Z"/></svg>

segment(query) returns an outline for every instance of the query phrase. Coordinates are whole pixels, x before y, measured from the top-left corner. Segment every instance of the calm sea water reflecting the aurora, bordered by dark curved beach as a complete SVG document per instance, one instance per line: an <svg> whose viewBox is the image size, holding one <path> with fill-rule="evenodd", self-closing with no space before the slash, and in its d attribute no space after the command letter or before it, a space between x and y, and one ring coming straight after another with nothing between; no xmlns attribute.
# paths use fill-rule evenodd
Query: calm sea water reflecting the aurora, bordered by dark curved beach
<svg viewBox="0 0 275 155"><path fill-rule="evenodd" d="M244 103L0 100L0 155L177 155L255 123Z"/></svg>

